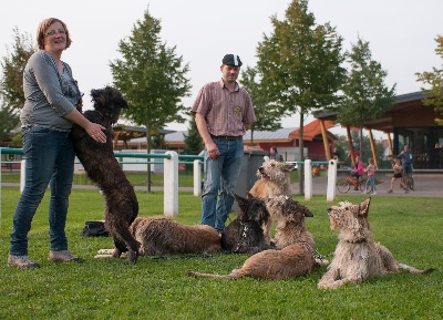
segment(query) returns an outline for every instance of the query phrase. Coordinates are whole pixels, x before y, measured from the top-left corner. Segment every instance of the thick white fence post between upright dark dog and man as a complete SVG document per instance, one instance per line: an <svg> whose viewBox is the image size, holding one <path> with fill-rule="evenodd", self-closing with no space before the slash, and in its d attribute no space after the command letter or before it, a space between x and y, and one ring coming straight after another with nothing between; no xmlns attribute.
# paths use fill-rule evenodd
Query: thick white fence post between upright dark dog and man
<svg viewBox="0 0 443 320"><path fill-rule="evenodd" d="M166 152L171 158L164 161L164 195L163 207L165 216L178 216L178 154Z"/></svg>

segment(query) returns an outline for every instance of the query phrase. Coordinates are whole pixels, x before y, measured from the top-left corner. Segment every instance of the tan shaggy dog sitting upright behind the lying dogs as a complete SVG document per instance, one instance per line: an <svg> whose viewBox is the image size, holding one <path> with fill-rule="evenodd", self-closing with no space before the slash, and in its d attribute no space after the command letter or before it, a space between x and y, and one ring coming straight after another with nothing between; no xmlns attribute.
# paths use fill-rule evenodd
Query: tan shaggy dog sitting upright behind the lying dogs
<svg viewBox="0 0 443 320"><path fill-rule="evenodd" d="M257 176L260 177L249 193L259 198L272 198L278 196L292 196L290 187L290 173L295 169L293 164L287 164L271 159L264 163L257 171ZM262 226L265 230L265 238L270 245L270 229L274 221L272 214L268 221Z"/></svg>

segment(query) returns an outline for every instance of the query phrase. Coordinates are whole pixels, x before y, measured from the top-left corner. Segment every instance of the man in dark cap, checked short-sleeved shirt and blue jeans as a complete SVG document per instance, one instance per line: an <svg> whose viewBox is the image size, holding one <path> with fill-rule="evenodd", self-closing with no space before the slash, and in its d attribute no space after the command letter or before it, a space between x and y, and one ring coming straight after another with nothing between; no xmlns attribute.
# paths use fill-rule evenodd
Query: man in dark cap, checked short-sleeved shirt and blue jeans
<svg viewBox="0 0 443 320"><path fill-rule="evenodd" d="M237 83L241 64L238 55L226 54L222 80L205 84L192 110L205 143L200 223L219 233L234 204L244 157L243 136L256 121L250 96Z"/></svg>

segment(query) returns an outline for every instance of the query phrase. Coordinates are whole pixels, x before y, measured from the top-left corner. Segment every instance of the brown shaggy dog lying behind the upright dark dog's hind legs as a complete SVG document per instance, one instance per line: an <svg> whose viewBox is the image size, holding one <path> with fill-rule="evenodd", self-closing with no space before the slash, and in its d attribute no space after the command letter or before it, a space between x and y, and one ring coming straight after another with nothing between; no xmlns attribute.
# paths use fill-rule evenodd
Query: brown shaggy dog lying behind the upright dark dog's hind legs
<svg viewBox="0 0 443 320"><path fill-rule="evenodd" d="M222 249L217 230L206 225L185 226L165 217L136 218L130 227L141 244L140 256L204 254ZM113 250L102 249L97 259L110 258Z"/></svg>

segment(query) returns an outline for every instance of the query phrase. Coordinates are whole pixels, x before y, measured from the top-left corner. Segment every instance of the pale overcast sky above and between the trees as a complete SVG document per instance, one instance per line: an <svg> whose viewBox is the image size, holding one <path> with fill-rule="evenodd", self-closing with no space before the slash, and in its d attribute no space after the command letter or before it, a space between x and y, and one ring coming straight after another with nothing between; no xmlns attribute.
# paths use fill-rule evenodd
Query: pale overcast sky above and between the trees
<svg viewBox="0 0 443 320"><path fill-rule="evenodd" d="M220 79L219 65L226 53L240 56L244 66L255 66L256 49L264 34L272 32L270 17L285 19L289 0L13 0L3 1L0 19L0 58L14 43L13 28L34 39L38 24L49 17L63 20L73 43L62 55L85 93L112 84L110 62L121 58L119 42L132 34L144 12L161 20L161 38L189 64L193 86L184 104L190 106L198 90ZM358 37L370 43L372 59L388 71L385 84L396 84L396 94L420 91L416 72L442 66L435 54L437 34L443 34L442 0L310 0L316 23L337 28L343 50ZM241 74L240 74L241 78ZM311 116L306 122L310 122ZM298 127L298 115L285 118L284 127ZM187 124L165 128L187 130ZM340 128L332 133L340 133Z"/></svg>

